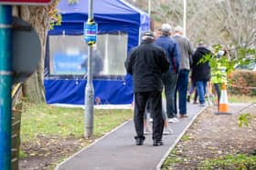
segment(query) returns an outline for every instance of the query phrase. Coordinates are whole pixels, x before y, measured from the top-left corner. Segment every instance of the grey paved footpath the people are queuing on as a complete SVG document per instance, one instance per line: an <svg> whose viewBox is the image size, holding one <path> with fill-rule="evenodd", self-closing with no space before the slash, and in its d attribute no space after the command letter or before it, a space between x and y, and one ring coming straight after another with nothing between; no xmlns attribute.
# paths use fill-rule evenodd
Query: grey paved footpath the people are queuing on
<svg viewBox="0 0 256 170"><path fill-rule="evenodd" d="M187 105L187 118L170 124L172 135L164 135L164 145L153 146L152 135L146 135L144 145L135 145L133 121L128 121L104 135L92 145L70 156L56 170L155 170L160 169L165 157L175 147L197 115L205 107Z"/></svg>

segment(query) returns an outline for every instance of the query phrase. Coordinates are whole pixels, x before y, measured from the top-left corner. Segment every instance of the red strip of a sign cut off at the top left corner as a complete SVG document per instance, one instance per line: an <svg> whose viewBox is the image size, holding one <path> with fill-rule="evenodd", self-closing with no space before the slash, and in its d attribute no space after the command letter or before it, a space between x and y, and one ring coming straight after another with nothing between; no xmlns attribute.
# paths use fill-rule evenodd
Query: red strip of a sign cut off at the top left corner
<svg viewBox="0 0 256 170"><path fill-rule="evenodd" d="M0 0L0 5L48 5L52 0Z"/></svg>

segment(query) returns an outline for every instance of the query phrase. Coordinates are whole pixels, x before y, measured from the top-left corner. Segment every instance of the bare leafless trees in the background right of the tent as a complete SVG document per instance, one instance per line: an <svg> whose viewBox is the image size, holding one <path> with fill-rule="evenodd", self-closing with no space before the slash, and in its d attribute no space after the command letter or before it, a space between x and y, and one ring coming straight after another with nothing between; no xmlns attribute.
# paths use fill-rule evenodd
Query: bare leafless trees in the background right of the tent
<svg viewBox="0 0 256 170"><path fill-rule="evenodd" d="M143 8L148 0L136 0ZM152 15L158 23L182 25L183 1L151 0ZM160 25L158 24L158 25ZM196 44L255 46L255 0L187 0L187 36Z"/></svg>

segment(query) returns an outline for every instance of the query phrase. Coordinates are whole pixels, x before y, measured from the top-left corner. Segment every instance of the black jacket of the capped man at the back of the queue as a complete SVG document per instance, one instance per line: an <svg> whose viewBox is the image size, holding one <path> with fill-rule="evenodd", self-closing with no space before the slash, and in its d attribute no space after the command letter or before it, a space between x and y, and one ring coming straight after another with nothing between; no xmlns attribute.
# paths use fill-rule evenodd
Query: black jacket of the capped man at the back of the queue
<svg viewBox="0 0 256 170"><path fill-rule="evenodd" d="M134 93L162 91L161 75L168 71L169 63L161 47L144 41L132 49L124 65L133 75Z"/></svg>

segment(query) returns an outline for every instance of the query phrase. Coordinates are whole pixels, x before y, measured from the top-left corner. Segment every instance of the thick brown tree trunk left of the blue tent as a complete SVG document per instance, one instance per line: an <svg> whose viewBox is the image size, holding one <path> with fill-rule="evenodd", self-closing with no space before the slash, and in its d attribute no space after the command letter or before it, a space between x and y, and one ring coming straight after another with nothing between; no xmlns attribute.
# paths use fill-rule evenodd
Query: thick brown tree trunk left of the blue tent
<svg viewBox="0 0 256 170"><path fill-rule="evenodd" d="M37 65L36 72L31 75L23 85L23 95L32 102L45 101L44 60L46 54L46 40L49 27L49 16L47 6L16 6L14 15L22 18L37 31L41 42L41 59ZM33 57L33 56L31 56Z"/></svg>

